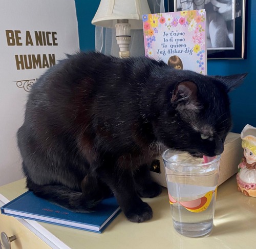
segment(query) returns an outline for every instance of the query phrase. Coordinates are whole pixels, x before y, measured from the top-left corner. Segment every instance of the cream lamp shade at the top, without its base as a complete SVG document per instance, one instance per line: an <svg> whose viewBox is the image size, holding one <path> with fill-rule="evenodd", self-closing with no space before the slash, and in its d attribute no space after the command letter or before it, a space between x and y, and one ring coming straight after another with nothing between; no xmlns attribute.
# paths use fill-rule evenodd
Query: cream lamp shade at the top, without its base
<svg viewBox="0 0 256 249"><path fill-rule="evenodd" d="M101 0L92 24L114 28L117 19L127 19L131 29L142 29L142 15L150 13L147 0Z"/></svg>

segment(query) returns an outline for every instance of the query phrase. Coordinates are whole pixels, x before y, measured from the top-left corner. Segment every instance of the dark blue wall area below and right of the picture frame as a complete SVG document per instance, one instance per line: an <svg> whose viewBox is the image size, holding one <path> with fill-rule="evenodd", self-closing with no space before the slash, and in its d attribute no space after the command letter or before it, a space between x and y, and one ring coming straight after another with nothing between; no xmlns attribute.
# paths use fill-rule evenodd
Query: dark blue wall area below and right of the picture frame
<svg viewBox="0 0 256 249"><path fill-rule="evenodd" d="M256 127L256 1L247 1L247 34L245 60L208 60L209 75L228 75L248 72L244 84L230 93L234 132L241 132L246 124ZM252 13L254 13L252 15Z"/></svg>

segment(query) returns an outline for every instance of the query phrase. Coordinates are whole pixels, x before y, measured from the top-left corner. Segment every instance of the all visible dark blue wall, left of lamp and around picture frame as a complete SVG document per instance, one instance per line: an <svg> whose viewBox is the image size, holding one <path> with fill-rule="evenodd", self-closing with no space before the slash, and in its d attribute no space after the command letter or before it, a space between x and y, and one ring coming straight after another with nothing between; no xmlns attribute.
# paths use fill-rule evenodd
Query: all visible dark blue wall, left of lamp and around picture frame
<svg viewBox="0 0 256 249"><path fill-rule="evenodd" d="M230 93L231 111L233 117L233 132L240 133L246 124L256 127L256 1L247 1L247 34L245 60L208 60L209 75L229 75L248 72L243 85ZM80 49L83 51L95 48L95 27L91 20L97 11L100 0L83 1L75 0ZM254 30L253 30L254 29Z"/></svg>

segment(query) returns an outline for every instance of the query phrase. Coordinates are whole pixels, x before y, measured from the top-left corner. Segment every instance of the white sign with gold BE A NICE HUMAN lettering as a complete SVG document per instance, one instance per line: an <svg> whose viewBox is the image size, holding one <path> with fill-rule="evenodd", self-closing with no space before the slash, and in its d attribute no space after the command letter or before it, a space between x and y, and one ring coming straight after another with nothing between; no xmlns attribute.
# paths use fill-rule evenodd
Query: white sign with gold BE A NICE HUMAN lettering
<svg viewBox="0 0 256 249"><path fill-rule="evenodd" d="M0 185L22 177L16 132L31 85L79 50L73 0L2 0L0 6ZM8 174L8 172L10 172Z"/></svg>

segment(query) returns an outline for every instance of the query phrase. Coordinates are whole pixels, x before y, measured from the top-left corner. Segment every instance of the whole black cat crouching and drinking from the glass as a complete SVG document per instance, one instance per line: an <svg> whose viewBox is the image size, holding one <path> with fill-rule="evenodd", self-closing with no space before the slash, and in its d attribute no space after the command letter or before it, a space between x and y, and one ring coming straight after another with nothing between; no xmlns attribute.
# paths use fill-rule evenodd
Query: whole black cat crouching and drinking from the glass
<svg viewBox="0 0 256 249"><path fill-rule="evenodd" d="M17 133L27 187L80 212L114 192L129 220L151 219L140 197L161 187L148 166L167 147L222 153L231 126L227 93L244 77L92 52L60 61L33 85Z"/></svg>

